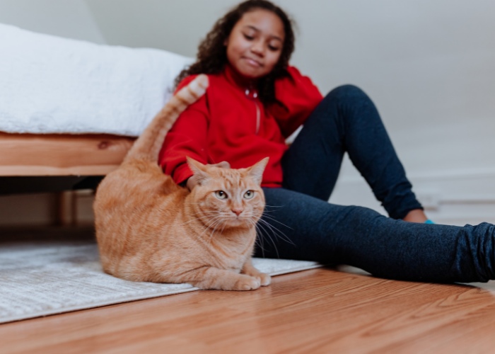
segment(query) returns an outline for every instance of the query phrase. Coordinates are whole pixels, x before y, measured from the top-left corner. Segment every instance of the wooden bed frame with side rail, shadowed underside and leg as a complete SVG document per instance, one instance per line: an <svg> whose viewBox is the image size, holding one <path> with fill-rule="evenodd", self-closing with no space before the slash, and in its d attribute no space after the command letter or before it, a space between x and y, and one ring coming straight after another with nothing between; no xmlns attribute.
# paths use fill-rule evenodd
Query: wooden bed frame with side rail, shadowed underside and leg
<svg viewBox="0 0 495 354"><path fill-rule="evenodd" d="M0 195L54 193L55 225L78 223L75 183L117 169L134 138L118 135L10 134L0 132ZM36 182L31 179L36 178ZM87 185L88 183L86 183Z"/></svg>

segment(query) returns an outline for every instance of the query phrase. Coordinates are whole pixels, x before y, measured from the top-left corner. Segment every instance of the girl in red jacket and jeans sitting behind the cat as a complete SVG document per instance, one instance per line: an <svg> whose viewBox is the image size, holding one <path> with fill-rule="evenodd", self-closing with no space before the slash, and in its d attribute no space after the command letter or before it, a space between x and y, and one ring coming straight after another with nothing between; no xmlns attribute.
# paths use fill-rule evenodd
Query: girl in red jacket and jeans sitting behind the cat
<svg viewBox="0 0 495 354"><path fill-rule="evenodd" d="M163 171L192 189L186 156L233 168L269 156L256 256L342 263L400 280L495 279L495 226L425 223L375 105L354 86L323 98L289 65L293 42L291 21L269 1L245 1L221 18L177 78L178 88L200 73L210 84L168 133ZM390 217L327 202L345 152Z"/></svg>

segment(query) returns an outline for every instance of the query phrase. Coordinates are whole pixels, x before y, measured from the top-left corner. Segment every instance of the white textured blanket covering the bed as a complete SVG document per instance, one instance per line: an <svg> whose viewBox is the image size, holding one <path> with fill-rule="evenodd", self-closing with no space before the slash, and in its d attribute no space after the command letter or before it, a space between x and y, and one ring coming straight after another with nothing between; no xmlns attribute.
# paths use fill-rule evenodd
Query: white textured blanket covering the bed
<svg viewBox="0 0 495 354"><path fill-rule="evenodd" d="M139 135L191 62L0 24L0 131Z"/></svg>

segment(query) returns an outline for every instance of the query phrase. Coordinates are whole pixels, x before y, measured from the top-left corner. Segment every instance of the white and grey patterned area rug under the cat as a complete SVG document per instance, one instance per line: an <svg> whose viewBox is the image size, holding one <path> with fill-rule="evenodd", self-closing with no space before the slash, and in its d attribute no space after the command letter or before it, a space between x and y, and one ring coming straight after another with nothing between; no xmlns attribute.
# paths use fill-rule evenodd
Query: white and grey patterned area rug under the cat
<svg viewBox="0 0 495 354"><path fill-rule="evenodd" d="M319 264L255 258L255 266L279 275ZM0 323L192 290L197 287L129 282L107 275L91 240L0 243Z"/></svg>

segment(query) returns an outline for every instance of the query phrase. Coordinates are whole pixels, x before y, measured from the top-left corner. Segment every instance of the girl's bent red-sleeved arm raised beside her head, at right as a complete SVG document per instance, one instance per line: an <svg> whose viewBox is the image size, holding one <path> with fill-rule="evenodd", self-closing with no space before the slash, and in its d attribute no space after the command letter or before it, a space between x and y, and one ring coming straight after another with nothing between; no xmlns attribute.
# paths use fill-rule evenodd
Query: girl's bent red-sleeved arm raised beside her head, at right
<svg viewBox="0 0 495 354"><path fill-rule="evenodd" d="M322 101L322 94L308 76L289 67L289 76L275 82L275 98L280 103L269 107L284 137L289 137L302 125Z"/></svg>

